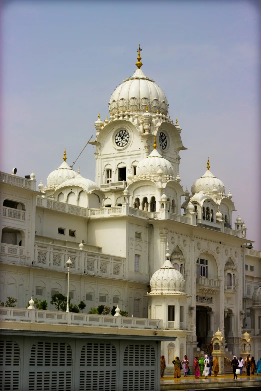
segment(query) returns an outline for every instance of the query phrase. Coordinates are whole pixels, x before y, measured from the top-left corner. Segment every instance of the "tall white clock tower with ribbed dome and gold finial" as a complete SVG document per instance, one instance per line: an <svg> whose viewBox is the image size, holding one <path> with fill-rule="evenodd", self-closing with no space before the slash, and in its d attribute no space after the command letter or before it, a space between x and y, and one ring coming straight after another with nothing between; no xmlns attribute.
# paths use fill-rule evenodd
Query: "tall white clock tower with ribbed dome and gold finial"
<svg viewBox="0 0 261 391"><path fill-rule="evenodd" d="M164 91L141 70L140 52L139 47L133 76L111 95L108 117L101 120L99 115L94 123L96 139L91 144L97 148L96 183L107 193L112 206L122 203L120 196L129 178L141 175L143 167L137 166L152 152L154 136L158 157L168 161L167 175L173 178L179 179L179 152L186 149L180 127L169 116Z"/></svg>

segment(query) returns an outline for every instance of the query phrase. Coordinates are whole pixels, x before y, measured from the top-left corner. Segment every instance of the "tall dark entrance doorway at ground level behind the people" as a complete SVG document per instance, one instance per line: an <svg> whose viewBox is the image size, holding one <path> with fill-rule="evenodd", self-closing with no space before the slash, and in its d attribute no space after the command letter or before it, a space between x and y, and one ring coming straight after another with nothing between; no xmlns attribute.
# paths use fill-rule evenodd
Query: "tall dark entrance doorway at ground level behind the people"
<svg viewBox="0 0 261 391"><path fill-rule="evenodd" d="M196 338L197 347L200 350L207 350L208 331L210 329L209 307L196 306Z"/></svg>

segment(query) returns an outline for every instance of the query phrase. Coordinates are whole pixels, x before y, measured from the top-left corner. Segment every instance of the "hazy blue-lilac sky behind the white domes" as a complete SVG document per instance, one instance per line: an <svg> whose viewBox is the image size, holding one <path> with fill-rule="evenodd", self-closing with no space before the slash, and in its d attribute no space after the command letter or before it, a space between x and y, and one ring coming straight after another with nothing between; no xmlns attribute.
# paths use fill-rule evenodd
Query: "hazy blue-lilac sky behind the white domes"
<svg viewBox="0 0 261 391"><path fill-rule="evenodd" d="M2 9L1 170L46 184L72 164L135 69L159 84L178 118L184 189L220 178L261 250L259 13L247 1L11 1ZM95 148L74 168L95 180ZM237 213L234 212L233 221Z"/></svg>

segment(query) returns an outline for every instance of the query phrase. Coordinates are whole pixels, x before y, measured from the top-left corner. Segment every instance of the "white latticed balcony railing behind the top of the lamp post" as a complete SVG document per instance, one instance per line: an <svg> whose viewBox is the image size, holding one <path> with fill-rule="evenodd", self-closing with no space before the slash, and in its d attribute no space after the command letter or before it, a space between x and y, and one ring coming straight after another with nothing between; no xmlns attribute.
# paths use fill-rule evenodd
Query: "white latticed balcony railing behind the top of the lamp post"
<svg viewBox="0 0 261 391"><path fill-rule="evenodd" d="M71 272L85 275L124 278L125 259L74 247L49 245L35 241L34 264L52 270L64 270L68 258Z"/></svg>

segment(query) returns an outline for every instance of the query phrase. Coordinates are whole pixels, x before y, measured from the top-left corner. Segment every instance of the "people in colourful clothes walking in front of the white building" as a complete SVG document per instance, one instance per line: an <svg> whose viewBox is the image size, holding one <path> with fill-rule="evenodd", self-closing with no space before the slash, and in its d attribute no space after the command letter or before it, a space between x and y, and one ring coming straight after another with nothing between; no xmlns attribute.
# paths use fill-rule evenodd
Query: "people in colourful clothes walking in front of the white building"
<svg viewBox="0 0 261 391"><path fill-rule="evenodd" d="M184 359L182 361L179 360L179 357L176 356L175 359L172 362L174 364L174 378L180 378L181 377L181 369L183 369L184 377L187 376L187 374L190 372L189 369L189 360L187 356L184 356ZM234 379L237 379L237 371L239 370L238 374L242 375L243 367L246 367L247 376L250 376L250 372L252 375L254 375L255 371L257 371L257 375L261 373L261 357L255 363L254 357L250 359L250 355L244 359L240 356L239 359L237 359L236 356L233 357L233 360L231 361L231 366L233 368L233 374ZM217 376L219 372L219 362L218 358L215 357L213 359L213 356L205 355L205 357L201 357L197 355L194 358L193 367L195 370L195 378L198 379L200 376L204 376L205 379L207 379L208 376L212 376L212 372L214 373L214 376ZM165 356L160 357L160 376L161 378L164 377L164 372L166 369L166 360ZM190 372L191 373L191 372Z"/></svg>

